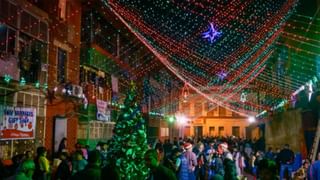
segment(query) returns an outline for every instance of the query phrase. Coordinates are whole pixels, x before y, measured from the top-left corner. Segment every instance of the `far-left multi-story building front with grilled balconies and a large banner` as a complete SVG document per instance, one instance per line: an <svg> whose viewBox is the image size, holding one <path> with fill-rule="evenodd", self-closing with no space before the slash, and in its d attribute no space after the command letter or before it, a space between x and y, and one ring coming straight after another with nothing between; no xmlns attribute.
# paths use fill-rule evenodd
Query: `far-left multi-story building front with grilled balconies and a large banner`
<svg viewBox="0 0 320 180"><path fill-rule="evenodd" d="M0 157L45 142L49 15L24 0L0 1Z"/></svg>

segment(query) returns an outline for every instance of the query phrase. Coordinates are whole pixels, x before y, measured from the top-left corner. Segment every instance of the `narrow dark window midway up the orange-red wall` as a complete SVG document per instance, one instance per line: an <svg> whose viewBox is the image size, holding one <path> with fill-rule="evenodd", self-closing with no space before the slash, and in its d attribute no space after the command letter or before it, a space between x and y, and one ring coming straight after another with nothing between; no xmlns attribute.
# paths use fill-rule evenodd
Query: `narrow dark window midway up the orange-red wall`
<svg viewBox="0 0 320 180"><path fill-rule="evenodd" d="M66 63L67 52L58 48L57 80L59 83L66 82Z"/></svg>

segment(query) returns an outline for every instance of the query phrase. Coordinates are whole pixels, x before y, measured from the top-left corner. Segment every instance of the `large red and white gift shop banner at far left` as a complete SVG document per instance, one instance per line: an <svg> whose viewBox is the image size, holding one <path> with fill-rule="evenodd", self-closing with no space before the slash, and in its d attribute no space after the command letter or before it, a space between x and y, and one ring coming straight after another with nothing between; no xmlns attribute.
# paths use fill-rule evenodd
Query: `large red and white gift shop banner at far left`
<svg viewBox="0 0 320 180"><path fill-rule="evenodd" d="M36 108L0 106L0 139L33 139Z"/></svg>

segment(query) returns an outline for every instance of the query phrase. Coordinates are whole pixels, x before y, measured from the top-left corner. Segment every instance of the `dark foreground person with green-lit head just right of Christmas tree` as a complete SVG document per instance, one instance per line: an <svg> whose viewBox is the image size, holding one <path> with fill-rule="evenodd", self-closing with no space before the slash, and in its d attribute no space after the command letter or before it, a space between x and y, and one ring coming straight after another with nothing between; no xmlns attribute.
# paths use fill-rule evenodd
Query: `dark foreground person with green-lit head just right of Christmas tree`
<svg viewBox="0 0 320 180"><path fill-rule="evenodd" d="M145 163L150 168L148 180L176 180L174 173L161 165L158 160L158 153L154 149L149 149L144 155Z"/></svg>

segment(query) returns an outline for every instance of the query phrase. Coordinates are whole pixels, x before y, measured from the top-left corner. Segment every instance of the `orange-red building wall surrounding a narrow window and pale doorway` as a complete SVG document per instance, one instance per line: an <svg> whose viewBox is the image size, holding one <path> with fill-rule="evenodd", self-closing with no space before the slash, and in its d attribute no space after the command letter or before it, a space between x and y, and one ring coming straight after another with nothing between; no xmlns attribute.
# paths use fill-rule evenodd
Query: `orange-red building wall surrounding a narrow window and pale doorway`
<svg viewBox="0 0 320 180"><path fill-rule="evenodd" d="M50 45L49 45L49 91L54 94L55 87L63 87L65 83L79 85L80 72L80 34L81 34L81 2L66 1L66 18L61 19L57 9L58 1L47 1L43 8L49 13ZM67 51L65 83L57 81L57 53L58 48ZM80 99L67 98L64 95L53 95L47 104L45 146L52 150L53 124L55 116L67 118L67 147L74 150L77 142L78 109Z"/></svg>

